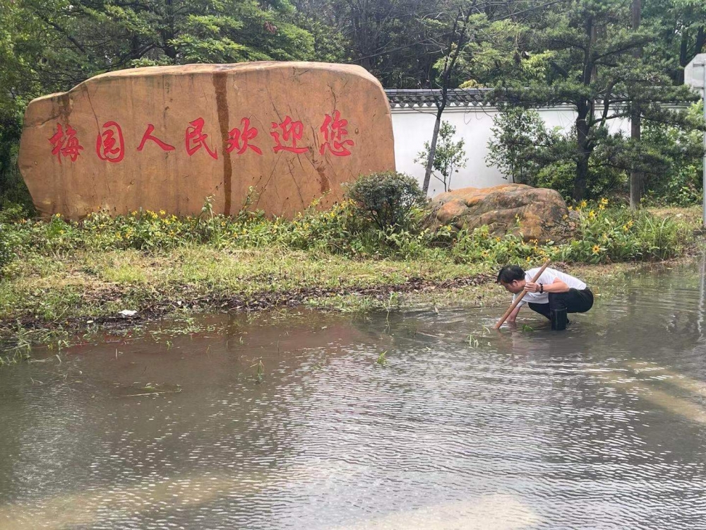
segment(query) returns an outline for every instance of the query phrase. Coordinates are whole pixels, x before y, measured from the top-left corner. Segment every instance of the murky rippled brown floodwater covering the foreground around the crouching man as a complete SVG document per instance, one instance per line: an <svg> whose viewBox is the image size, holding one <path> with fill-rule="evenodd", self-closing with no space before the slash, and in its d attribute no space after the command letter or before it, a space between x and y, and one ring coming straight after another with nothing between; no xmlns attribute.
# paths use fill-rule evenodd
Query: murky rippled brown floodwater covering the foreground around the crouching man
<svg viewBox="0 0 706 530"><path fill-rule="evenodd" d="M213 317L0 370L0 529L703 529L706 294Z"/></svg>

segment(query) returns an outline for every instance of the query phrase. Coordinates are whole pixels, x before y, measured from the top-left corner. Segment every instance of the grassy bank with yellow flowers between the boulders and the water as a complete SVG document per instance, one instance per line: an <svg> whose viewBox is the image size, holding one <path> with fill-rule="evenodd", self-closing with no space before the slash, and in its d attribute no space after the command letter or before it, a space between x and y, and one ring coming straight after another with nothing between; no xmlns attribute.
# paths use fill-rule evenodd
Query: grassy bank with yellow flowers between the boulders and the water
<svg viewBox="0 0 706 530"><path fill-rule="evenodd" d="M492 285L498 264L529 268L550 258L573 271L589 264L581 270L590 277L682 257L694 248L700 211L586 205L575 240L564 245L483 229L381 230L361 223L350 204L293 221L222 218L207 204L194 218L135 212L67 223L6 212L0 224L0 335L8 337L294 305L355 311L504 303ZM136 314L126 318L124 310Z"/></svg>

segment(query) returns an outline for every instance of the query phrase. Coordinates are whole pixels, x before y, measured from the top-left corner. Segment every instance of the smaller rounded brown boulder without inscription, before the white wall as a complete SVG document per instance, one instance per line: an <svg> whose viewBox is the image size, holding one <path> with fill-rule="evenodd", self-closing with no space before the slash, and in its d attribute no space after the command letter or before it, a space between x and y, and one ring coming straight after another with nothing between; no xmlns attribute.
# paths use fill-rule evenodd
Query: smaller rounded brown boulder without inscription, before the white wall
<svg viewBox="0 0 706 530"><path fill-rule="evenodd" d="M563 242L575 228L566 202L554 189L525 184L462 188L437 195L431 202L436 223L457 230L488 225L493 235L513 233L525 241Z"/></svg>

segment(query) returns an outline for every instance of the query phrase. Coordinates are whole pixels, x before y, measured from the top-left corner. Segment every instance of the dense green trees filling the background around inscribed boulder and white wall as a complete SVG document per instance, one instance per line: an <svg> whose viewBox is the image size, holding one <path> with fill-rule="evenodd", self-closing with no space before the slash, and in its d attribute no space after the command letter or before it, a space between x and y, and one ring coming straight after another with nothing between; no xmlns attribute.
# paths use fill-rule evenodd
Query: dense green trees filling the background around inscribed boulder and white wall
<svg viewBox="0 0 706 530"><path fill-rule="evenodd" d="M665 104L693 99L683 67L706 52L706 4L643 4L636 25L623 0L0 0L0 207L29 206L16 155L32 98L116 69L257 60L360 64L385 88L495 87L524 108L568 103L570 134L517 113L527 134L511 134L525 143L489 162L576 201L645 172L650 200L684 203L698 190L674 147L695 121ZM643 139L611 129L635 116Z"/></svg>

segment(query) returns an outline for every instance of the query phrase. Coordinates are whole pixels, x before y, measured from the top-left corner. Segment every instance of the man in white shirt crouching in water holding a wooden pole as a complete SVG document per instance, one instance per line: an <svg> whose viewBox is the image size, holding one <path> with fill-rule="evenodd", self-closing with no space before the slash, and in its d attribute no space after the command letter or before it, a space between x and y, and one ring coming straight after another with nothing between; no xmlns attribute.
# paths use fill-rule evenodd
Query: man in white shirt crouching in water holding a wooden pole
<svg viewBox="0 0 706 530"><path fill-rule="evenodd" d="M544 269L536 282L532 281L539 267L524 271L517 265L506 265L498 273L498 283L513 293L513 301L523 290L527 291L508 322L515 322L523 305L551 320L551 329L566 329L568 313L585 313L593 307L593 293L586 284L556 269Z"/></svg>

